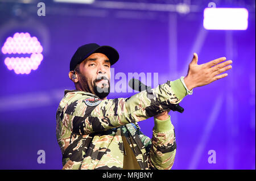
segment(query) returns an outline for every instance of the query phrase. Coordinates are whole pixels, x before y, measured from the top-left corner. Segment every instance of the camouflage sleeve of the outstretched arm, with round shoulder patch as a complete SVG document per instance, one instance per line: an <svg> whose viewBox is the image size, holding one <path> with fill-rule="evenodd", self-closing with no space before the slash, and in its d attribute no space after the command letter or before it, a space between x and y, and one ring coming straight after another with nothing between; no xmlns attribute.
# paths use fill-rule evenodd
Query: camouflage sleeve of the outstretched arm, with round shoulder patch
<svg viewBox="0 0 256 181"><path fill-rule="evenodd" d="M102 100L97 106L86 106L74 100L75 110L69 111L68 128L78 134L101 132L128 123L135 123L167 110L187 95L180 79L167 81L152 92L142 91L130 98Z"/></svg>

